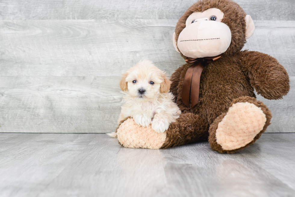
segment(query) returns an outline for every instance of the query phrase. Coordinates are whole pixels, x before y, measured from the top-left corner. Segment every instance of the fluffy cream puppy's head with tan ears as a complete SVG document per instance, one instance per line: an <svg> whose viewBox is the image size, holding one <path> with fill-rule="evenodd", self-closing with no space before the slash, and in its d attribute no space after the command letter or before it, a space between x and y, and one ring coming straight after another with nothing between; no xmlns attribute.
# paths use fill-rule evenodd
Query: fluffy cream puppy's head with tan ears
<svg viewBox="0 0 295 197"><path fill-rule="evenodd" d="M120 81L122 91L141 100L151 100L160 93L167 93L170 84L165 72L147 60L129 68Z"/></svg>

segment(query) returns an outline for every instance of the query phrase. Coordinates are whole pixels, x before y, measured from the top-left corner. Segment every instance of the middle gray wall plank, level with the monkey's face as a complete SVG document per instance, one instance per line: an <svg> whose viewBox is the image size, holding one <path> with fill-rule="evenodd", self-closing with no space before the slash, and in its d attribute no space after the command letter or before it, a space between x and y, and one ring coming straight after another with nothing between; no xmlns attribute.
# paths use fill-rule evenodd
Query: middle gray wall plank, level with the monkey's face
<svg viewBox="0 0 295 197"><path fill-rule="evenodd" d="M171 75L177 20L0 21L0 76L120 76L140 59ZM274 56L295 76L295 21L255 21L244 49Z"/></svg>

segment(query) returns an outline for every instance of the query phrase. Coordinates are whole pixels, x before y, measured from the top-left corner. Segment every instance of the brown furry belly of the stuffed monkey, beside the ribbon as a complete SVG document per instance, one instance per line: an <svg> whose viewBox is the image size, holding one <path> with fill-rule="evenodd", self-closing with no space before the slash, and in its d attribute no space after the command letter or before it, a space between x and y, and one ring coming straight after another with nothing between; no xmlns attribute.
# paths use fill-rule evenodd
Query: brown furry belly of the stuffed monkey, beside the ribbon
<svg viewBox="0 0 295 197"><path fill-rule="evenodd" d="M199 103L196 106L188 108L181 100L178 101L179 108L183 112L198 114L209 124L226 112L234 99L241 96L255 97L249 79L238 65L227 68L216 67L204 69L205 72L202 73L200 80Z"/></svg>

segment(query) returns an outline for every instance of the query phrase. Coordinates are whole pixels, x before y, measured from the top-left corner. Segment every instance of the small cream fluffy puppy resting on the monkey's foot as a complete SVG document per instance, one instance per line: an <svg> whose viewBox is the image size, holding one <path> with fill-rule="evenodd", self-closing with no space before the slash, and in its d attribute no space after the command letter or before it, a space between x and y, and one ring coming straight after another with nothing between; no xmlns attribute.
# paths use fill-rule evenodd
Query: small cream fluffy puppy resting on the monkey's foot
<svg viewBox="0 0 295 197"><path fill-rule="evenodd" d="M130 116L138 125L146 127L151 124L152 129L159 133L166 131L181 113L172 101L170 84L165 72L151 61L141 60L129 68L120 81L125 104L118 123ZM116 137L114 132L108 135Z"/></svg>

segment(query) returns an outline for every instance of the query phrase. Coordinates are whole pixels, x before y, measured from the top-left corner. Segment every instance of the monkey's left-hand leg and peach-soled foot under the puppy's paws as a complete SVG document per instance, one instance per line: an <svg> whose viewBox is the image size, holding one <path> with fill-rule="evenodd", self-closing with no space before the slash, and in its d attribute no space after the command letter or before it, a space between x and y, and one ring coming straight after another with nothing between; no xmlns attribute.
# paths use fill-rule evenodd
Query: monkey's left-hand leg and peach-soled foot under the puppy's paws
<svg viewBox="0 0 295 197"><path fill-rule="evenodd" d="M208 139L208 123L200 116L185 113L169 125L169 128L159 133L147 127L139 126L127 117L122 120L116 130L119 144L128 148L160 149L185 145Z"/></svg>

